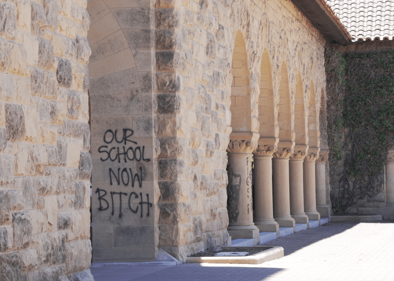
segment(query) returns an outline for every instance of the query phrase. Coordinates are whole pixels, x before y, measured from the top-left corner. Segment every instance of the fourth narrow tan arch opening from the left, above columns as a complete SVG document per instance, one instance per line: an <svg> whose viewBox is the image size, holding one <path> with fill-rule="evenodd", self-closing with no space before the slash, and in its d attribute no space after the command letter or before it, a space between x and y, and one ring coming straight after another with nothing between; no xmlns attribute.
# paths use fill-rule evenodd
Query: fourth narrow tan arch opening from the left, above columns
<svg viewBox="0 0 394 281"><path fill-rule="evenodd" d="M304 90L302 86L301 73L298 73L297 84L295 85L294 98L294 133L296 145L308 144L308 118L305 111Z"/></svg>

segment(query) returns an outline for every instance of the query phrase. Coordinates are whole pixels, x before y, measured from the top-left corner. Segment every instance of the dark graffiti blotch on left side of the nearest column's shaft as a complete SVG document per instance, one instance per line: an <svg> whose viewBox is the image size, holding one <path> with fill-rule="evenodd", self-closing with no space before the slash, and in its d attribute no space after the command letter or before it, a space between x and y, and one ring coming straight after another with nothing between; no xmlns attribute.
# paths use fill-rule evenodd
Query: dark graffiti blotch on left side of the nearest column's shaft
<svg viewBox="0 0 394 281"><path fill-rule="evenodd" d="M241 175L236 174L232 171L231 166L228 172L228 220L230 223L237 223L238 215L238 204L240 202L240 189L241 189Z"/></svg>

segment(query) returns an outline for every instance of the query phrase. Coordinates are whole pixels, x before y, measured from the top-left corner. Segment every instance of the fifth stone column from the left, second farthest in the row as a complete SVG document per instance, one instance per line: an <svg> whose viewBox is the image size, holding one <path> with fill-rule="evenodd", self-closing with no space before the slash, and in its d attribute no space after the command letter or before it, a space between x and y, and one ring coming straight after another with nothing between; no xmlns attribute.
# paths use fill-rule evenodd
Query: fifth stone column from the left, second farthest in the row
<svg viewBox="0 0 394 281"><path fill-rule="evenodd" d="M304 209L309 220L320 220L316 210L316 179L315 162L319 155L319 148L309 148L304 159Z"/></svg>

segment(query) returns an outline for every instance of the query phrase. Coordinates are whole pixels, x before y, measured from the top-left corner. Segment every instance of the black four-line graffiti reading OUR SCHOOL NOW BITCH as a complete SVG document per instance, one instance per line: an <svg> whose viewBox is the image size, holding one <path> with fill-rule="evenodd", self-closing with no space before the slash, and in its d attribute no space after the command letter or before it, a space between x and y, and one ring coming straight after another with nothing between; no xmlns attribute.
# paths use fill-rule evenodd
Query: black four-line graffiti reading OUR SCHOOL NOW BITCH
<svg viewBox="0 0 394 281"><path fill-rule="evenodd" d="M108 168L109 183L111 186L119 186L119 190L108 192L106 189L97 188L95 193L99 200L99 211L109 210L110 214L121 218L124 212L149 216L152 203L149 202L149 194L134 188L143 188L143 167L134 169L135 162L150 162L145 156L145 146L138 145L130 139L133 130L123 129L118 136L117 130L107 130L104 134L104 143L99 147L99 153L103 156L102 162L124 163L126 167L112 169ZM109 147L110 145L111 147ZM131 188L131 190L130 190ZM133 201L137 200L133 208ZM123 206L122 206L123 205Z"/></svg>

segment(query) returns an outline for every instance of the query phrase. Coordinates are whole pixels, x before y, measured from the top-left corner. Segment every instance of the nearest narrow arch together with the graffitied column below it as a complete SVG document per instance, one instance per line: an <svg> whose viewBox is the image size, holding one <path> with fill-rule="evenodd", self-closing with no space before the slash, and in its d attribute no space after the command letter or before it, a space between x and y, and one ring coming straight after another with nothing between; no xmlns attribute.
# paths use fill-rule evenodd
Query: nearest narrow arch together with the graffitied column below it
<svg viewBox="0 0 394 281"><path fill-rule="evenodd" d="M253 224L252 152L258 133L251 132L249 70L245 41L241 31L235 35L232 56L231 126L228 152L228 233L232 238L254 238L260 242L259 230Z"/></svg>

